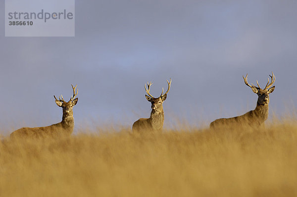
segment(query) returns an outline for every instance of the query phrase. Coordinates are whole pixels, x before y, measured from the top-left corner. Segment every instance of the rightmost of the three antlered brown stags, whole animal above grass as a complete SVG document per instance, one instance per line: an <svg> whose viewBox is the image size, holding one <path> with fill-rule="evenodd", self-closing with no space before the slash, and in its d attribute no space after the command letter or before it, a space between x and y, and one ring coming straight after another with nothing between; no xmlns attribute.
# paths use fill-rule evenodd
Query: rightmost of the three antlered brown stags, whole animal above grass
<svg viewBox="0 0 297 197"><path fill-rule="evenodd" d="M264 123L268 118L268 103L269 103L269 94L272 93L275 89L275 86L271 87L275 82L275 76L272 72L271 82L268 82L264 89L261 89L258 81L258 87L253 84L249 85L247 83L247 76L244 77L245 84L251 88L252 92L258 95L258 101L256 108L254 110L248 111L244 115L233 117L233 118L220 118L210 123L210 128L217 128L221 126L251 126L257 127ZM270 88L271 87L271 88Z"/></svg>

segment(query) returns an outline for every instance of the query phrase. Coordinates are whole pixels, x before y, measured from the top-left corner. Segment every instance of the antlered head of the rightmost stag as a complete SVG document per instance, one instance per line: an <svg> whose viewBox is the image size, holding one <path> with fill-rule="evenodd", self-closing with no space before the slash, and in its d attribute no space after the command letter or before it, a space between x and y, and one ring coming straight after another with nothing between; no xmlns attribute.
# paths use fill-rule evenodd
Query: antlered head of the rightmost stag
<svg viewBox="0 0 297 197"><path fill-rule="evenodd" d="M271 77L271 83L269 83L269 78L267 78L268 79L268 82L267 82L267 84L266 84L266 86L265 86L264 89L261 89L260 88L260 86L258 84L258 80L257 80L258 87L256 87L253 84L249 85L247 83L247 76L246 77L243 76L243 78L245 80L245 84L248 87L251 88L252 92L254 92L255 94L258 95L258 102L257 102L257 104L259 104L259 105L268 104L269 103L269 94L272 93L274 91L274 89L275 89L275 86L271 87L272 84L275 82L275 76L274 76L273 72L272 72L272 76L271 75L269 75L269 76Z"/></svg>

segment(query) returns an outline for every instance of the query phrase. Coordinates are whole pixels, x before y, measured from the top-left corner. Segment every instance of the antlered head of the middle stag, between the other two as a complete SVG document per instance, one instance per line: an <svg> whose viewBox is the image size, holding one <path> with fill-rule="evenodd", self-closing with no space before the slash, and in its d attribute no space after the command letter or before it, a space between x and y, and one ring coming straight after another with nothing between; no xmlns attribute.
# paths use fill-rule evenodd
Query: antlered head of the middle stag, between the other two
<svg viewBox="0 0 297 197"><path fill-rule="evenodd" d="M163 92L164 92L164 89L162 88L162 93L161 93L161 96L158 97L158 98L154 98L153 96L151 96L149 94L149 89L150 89L150 86L151 86L151 82L149 82L148 84L148 89L146 87L146 84L145 84L145 90L147 92L148 95L146 95L146 98L148 100L148 102L151 103L151 109L153 111L156 111L156 112L161 112L163 111L163 102L164 100L167 98L167 93L169 92L170 90L170 84L171 84L171 78L170 78L170 82L168 80L166 80L167 83L168 83L168 90L166 91L166 93L163 95Z"/></svg>

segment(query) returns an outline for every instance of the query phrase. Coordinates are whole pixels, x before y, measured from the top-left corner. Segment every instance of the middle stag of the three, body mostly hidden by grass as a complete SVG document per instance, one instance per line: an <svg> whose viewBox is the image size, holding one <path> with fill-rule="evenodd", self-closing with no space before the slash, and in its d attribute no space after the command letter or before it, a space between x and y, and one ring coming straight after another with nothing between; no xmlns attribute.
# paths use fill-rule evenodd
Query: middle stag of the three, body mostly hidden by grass
<svg viewBox="0 0 297 197"><path fill-rule="evenodd" d="M149 118L141 118L134 122L132 126L133 133L144 133L144 132L161 132L163 129L164 123L164 110L163 110L163 102L167 98L167 93L170 90L171 79L170 82L167 80L168 90L163 95L164 89L162 88L161 96L158 98L154 98L149 94L149 89L151 86L151 82L148 83L148 89L145 84L145 90L148 95L146 95L146 99L151 103L151 112Z"/></svg>

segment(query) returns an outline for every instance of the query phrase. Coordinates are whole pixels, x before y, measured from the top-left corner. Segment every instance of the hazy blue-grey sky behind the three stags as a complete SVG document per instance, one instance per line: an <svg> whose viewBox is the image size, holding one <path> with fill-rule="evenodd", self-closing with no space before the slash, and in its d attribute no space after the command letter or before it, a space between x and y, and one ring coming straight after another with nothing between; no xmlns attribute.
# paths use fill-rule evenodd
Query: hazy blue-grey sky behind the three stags
<svg viewBox="0 0 297 197"><path fill-rule="evenodd" d="M0 1L4 13L4 0ZM76 128L132 125L148 117L144 84L158 96L166 79L165 125L202 126L254 109L274 72L272 112L296 104L297 1L76 1L74 38L4 37L0 20L2 133L61 120L53 95L70 98L78 84Z"/></svg>

